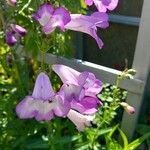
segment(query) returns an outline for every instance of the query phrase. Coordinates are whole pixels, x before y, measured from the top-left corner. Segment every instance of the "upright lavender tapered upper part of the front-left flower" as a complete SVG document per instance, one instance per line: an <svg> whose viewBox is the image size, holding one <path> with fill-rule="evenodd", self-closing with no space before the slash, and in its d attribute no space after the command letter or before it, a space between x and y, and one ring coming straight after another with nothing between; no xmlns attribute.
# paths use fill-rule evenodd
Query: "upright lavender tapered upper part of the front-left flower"
<svg viewBox="0 0 150 150"><path fill-rule="evenodd" d="M49 77L41 72L35 82L32 97L39 100L49 100L55 95Z"/></svg>

